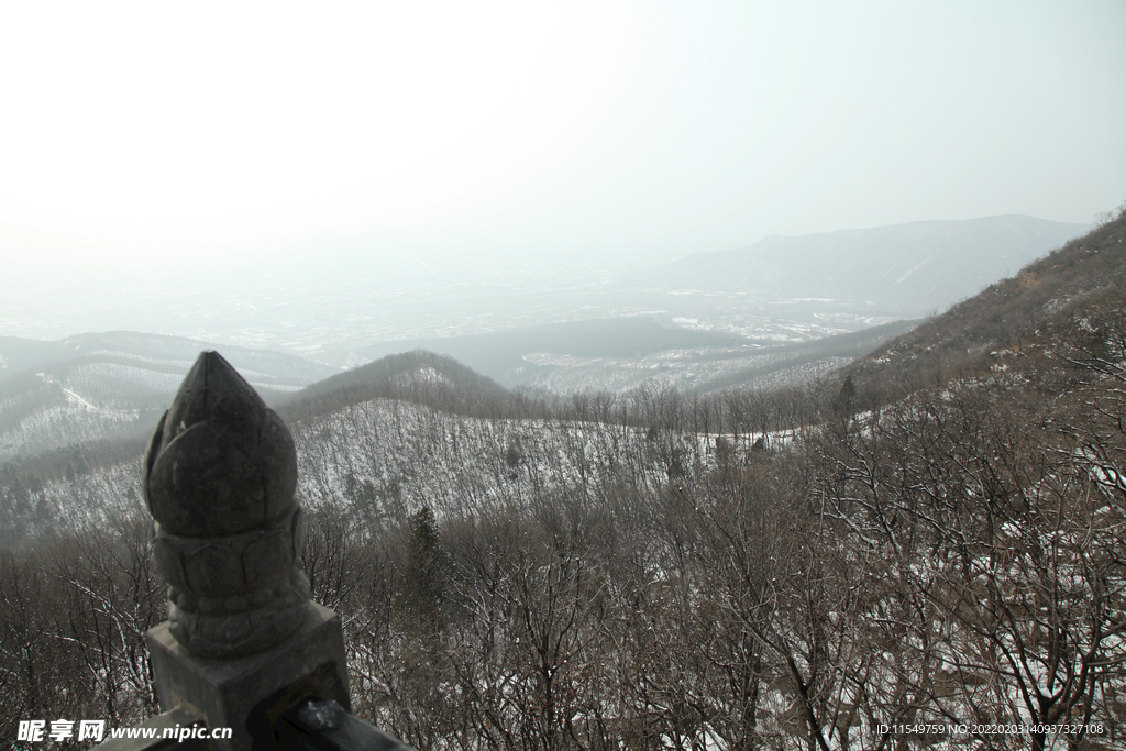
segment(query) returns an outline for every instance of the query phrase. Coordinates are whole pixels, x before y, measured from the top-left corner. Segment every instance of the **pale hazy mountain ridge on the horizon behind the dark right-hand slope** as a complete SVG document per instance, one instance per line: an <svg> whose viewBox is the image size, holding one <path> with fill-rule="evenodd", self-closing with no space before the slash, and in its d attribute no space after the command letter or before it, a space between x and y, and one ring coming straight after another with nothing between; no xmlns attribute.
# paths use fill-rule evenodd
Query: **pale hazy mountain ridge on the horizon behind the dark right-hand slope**
<svg viewBox="0 0 1126 751"><path fill-rule="evenodd" d="M1090 229L1006 215L775 235L748 248L694 253L623 283L844 299L917 316L976 294Z"/></svg>

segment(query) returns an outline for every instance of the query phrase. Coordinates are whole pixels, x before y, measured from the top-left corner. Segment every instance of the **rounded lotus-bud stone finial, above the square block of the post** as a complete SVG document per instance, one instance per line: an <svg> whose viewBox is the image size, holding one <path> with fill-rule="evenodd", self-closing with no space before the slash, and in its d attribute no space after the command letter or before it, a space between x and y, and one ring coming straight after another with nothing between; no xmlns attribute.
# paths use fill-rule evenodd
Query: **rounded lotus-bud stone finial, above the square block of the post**
<svg viewBox="0 0 1126 751"><path fill-rule="evenodd" d="M143 473L176 640L214 659L294 633L312 606L293 437L217 352L202 352L185 376Z"/></svg>

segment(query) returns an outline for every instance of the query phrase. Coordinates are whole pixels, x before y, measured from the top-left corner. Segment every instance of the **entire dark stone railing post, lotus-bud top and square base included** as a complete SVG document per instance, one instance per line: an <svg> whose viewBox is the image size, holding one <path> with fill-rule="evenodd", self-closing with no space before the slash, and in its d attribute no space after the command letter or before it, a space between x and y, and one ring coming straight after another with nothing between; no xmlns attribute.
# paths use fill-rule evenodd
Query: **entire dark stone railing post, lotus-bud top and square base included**
<svg viewBox="0 0 1126 751"><path fill-rule="evenodd" d="M148 635L161 717L232 728L209 741L216 751L302 748L303 733L331 735L341 723L360 726L354 748L405 749L348 714L343 632L310 599L296 485L285 423L217 352L202 352L143 465L153 556L169 583L168 620Z"/></svg>

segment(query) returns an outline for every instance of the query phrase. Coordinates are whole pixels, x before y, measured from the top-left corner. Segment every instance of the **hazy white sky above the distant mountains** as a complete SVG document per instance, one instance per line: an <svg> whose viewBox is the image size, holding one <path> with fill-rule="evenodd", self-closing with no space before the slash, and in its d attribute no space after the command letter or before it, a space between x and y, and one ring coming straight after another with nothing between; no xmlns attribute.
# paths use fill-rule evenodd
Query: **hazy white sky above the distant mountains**
<svg viewBox="0 0 1126 751"><path fill-rule="evenodd" d="M1124 81L1120 0L5 3L0 259L1090 222Z"/></svg>

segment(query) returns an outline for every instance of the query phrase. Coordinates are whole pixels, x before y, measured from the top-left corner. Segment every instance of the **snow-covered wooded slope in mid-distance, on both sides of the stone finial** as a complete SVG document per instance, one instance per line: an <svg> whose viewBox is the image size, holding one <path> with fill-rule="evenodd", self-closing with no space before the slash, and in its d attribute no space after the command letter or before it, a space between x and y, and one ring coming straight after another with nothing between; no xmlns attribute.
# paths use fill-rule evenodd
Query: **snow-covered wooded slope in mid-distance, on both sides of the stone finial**
<svg viewBox="0 0 1126 751"><path fill-rule="evenodd" d="M595 497L607 488L654 490L713 461L714 440L692 433L579 420L486 419L391 399L372 399L289 423L303 504L357 521L403 521L524 503L551 493ZM34 464L0 465L0 527L34 537L48 527L98 524L141 503L140 450L107 464L83 448L42 476Z"/></svg>

